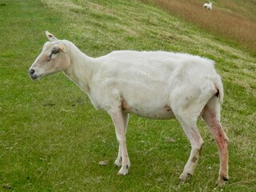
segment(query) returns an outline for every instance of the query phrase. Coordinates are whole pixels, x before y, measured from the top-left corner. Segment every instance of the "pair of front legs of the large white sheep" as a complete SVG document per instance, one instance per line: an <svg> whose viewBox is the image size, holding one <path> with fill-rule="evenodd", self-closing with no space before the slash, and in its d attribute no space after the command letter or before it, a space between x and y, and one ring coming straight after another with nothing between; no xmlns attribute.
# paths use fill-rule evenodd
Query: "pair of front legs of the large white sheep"
<svg viewBox="0 0 256 192"><path fill-rule="evenodd" d="M128 115L123 114L121 109L111 110L109 111L109 114L114 123L116 136L119 142L118 158L115 161L115 164L119 166L121 162L121 169L118 171L118 174L126 175L128 174L128 169L130 167L126 146L126 125L128 122Z"/></svg>

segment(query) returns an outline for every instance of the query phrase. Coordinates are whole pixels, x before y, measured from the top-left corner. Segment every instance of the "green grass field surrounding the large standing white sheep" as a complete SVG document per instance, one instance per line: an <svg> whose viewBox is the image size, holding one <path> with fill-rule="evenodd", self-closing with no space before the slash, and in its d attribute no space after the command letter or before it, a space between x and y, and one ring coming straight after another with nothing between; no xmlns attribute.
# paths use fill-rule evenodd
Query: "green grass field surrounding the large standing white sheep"
<svg viewBox="0 0 256 192"><path fill-rule="evenodd" d="M178 180L190 154L178 122L134 115L127 132L130 173L118 176L110 117L94 110L63 74L39 82L28 77L45 30L93 57L112 50L168 50L214 59L225 86L228 185L215 186L218 150L201 120L205 145L189 182ZM256 59L238 42L135 0L0 1L0 34L0 191L256 190ZM110 163L99 166L103 160Z"/></svg>

